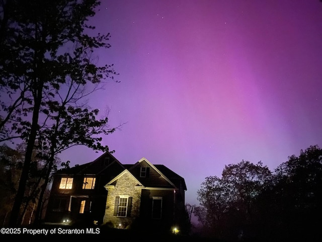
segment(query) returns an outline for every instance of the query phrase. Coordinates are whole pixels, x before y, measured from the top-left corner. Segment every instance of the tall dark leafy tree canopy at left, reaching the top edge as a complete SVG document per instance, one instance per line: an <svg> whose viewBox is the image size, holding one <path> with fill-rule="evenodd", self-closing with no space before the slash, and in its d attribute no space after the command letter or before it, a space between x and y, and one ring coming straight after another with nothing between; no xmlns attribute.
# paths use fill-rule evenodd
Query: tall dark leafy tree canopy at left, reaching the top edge
<svg viewBox="0 0 322 242"><path fill-rule="evenodd" d="M88 19L96 0L1 1L0 85L2 141L26 142L25 160L11 225L18 221L34 149L47 160L73 145L108 150L102 135L114 132L107 116L87 98L117 73L113 65L98 66L95 49L109 48L110 34L95 33Z"/></svg>

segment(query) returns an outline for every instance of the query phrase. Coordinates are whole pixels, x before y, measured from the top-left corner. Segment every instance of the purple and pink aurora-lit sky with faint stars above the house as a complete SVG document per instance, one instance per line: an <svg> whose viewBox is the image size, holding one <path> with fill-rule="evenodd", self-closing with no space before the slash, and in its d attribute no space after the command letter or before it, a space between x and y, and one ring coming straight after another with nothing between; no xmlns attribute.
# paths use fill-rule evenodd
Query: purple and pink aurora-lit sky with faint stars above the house
<svg viewBox="0 0 322 242"><path fill-rule="evenodd" d="M186 180L198 205L205 177L262 161L272 171L310 145L322 147L322 3L102 1L93 24L111 33L99 65L114 64L90 105L111 108L104 137L123 164L142 157ZM68 149L71 166L102 153Z"/></svg>

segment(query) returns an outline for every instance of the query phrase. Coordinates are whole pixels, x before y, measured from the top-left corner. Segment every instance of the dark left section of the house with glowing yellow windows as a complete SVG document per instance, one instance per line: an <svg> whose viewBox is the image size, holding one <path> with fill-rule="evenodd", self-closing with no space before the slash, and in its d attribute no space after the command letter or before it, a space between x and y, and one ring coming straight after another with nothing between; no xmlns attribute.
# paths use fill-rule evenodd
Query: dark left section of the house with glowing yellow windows
<svg viewBox="0 0 322 242"><path fill-rule="evenodd" d="M45 222L102 222L107 198L104 186L124 169L107 152L90 163L55 172Z"/></svg>

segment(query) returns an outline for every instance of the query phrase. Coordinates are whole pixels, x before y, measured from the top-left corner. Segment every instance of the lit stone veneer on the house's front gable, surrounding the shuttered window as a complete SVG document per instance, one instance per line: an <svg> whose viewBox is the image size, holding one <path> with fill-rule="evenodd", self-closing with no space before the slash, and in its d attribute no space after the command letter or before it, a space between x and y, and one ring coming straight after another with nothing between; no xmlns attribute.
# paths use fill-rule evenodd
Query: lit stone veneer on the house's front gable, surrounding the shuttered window
<svg viewBox="0 0 322 242"><path fill-rule="evenodd" d="M131 225L135 218L139 217L141 189L134 189L136 185L136 179L129 173L125 173L116 180L115 187L108 191L103 223L112 222L117 228L126 228ZM129 197L132 197L130 217L125 218L113 215L115 198L120 195L128 195ZM121 226L119 226L119 224L121 224Z"/></svg>

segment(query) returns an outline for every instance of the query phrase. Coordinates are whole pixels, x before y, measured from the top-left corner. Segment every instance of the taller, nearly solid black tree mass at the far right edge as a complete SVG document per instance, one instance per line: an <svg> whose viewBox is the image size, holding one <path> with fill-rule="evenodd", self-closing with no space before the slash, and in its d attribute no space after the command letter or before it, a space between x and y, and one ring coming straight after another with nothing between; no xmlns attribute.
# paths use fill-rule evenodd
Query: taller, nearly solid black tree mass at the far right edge
<svg viewBox="0 0 322 242"><path fill-rule="evenodd" d="M260 232L266 237L313 239L322 226L322 149L310 146L275 169L258 198Z"/></svg>

